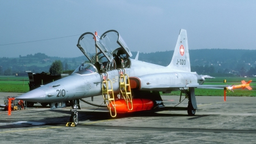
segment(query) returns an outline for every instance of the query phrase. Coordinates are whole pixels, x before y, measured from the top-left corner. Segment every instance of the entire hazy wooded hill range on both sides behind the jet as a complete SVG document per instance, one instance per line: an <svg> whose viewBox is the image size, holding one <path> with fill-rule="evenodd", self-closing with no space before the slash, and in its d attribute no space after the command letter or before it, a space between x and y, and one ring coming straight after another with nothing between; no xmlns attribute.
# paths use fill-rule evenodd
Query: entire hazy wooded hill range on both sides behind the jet
<svg viewBox="0 0 256 144"><path fill-rule="evenodd" d="M135 58L137 52L132 52ZM139 60L167 66L172 60L173 51L140 53ZM256 75L256 50L241 49L198 49L189 50L191 71L198 74L234 74L237 76ZM50 57L42 53L28 54L19 58L0 58L0 75L13 75L19 72L49 72L55 60L61 60L65 70L74 70L87 61L85 56L76 58Z"/></svg>

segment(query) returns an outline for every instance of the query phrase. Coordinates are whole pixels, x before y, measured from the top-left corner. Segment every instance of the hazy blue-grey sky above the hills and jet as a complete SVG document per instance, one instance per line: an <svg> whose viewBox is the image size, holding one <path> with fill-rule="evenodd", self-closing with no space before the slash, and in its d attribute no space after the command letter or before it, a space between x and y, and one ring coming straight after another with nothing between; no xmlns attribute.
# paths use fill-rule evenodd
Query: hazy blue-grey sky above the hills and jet
<svg viewBox="0 0 256 144"><path fill-rule="evenodd" d="M256 1L0 0L0 58L42 52L83 56L79 36L115 29L131 51L173 50L180 29L189 49L256 49Z"/></svg>

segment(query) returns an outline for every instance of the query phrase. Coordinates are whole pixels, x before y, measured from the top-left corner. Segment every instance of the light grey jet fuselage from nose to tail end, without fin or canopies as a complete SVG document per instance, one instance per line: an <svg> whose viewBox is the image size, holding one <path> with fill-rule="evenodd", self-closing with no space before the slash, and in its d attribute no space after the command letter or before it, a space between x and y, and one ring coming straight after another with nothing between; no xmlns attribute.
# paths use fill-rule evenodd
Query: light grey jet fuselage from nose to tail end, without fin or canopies
<svg viewBox="0 0 256 144"><path fill-rule="evenodd" d="M30 102L62 102L102 95L103 76L111 80L113 92L119 93L120 70L111 70L106 73L99 74L97 70L86 74L73 72L68 77L24 93L19 99ZM125 68L125 74L140 81L138 90L171 92L186 88L189 84L195 86L204 83L204 79L198 74L138 60L131 60L131 67Z"/></svg>

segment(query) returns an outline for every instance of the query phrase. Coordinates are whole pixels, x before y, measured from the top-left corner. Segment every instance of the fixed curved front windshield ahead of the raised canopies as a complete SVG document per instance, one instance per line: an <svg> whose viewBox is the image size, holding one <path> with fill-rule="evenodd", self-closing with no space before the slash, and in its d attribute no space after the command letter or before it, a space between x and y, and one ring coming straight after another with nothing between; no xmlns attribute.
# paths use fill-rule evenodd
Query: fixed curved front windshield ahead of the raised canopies
<svg viewBox="0 0 256 144"><path fill-rule="evenodd" d="M82 63L76 70L73 72L76 74L92 74L97 72L97 69L91 63Z"/></svg>

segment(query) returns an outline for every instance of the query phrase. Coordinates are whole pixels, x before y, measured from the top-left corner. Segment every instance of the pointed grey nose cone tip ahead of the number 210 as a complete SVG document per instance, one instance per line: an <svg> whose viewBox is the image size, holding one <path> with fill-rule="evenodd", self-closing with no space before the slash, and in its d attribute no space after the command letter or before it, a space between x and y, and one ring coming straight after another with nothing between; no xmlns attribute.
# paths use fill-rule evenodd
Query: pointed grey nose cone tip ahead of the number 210
<svg viewBox="0 0 256 144"><path fill-rule="evenodd" d="M35 90L31 90L28 93L24 93L19 97L16 97L16 99L26 100L28 102L44 102L45 96L46 94L44 90L35 89Z"/></svg>

